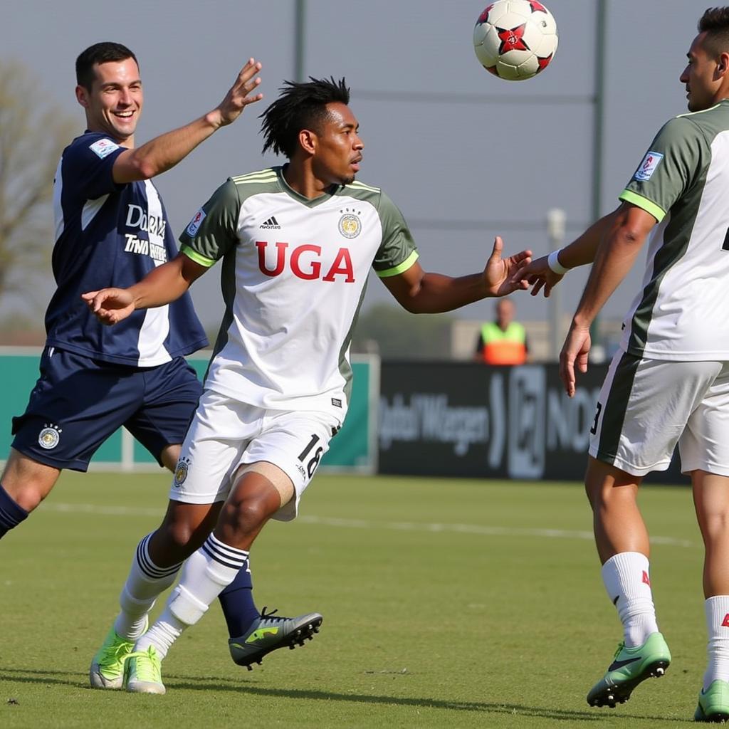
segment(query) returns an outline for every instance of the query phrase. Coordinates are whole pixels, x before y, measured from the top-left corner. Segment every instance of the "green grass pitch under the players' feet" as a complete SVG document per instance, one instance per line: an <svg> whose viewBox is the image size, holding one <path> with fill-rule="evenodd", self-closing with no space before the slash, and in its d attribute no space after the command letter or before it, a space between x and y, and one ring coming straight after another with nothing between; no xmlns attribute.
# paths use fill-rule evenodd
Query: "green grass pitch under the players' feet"
<svg viewBox="0 0 729 729"><path fill-rule="evenodd" d="M165 696L87 687L168 477L64 474L0 545L0 727L656 727L693 717L705 655L690 491L645 487L674 663L616 709L585 694L620 638L577 484L320 475L254 548L259 607L321 634L249 672L214 604L163 665ZM157 605L155 614L160 608Z"/></svg>

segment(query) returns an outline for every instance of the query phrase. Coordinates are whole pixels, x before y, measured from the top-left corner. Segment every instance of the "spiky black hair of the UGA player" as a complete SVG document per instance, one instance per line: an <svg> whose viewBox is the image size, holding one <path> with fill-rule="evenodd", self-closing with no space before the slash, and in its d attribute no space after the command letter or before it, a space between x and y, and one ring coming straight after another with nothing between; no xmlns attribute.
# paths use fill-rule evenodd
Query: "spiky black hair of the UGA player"
<svg viewBox="0 0 729 729"><path fill-rule="evenodd" d="M261 132L266 149L289 160L298 144L299 132L311 129L318 132L327 117L327 104L349 104L349 88L342 78L335 81L309 77L308 82L284 81L281 95L260 115Z"/></svg>

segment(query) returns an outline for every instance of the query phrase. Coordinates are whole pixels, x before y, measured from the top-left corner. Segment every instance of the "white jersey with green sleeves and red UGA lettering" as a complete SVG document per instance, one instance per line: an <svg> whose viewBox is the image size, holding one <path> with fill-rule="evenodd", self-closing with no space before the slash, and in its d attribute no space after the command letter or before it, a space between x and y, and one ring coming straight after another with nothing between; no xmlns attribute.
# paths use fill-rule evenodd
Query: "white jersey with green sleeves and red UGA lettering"
<svg viewBox="0 0 729 729"><path fill-rule="evenodd" d="M286 184L283 168L270 168L229 178L180 243L200 265L222 259L225 315L206 388L341 423L367 275L394 276L418 258L391 200L362 182L308 200Z"/></svg>

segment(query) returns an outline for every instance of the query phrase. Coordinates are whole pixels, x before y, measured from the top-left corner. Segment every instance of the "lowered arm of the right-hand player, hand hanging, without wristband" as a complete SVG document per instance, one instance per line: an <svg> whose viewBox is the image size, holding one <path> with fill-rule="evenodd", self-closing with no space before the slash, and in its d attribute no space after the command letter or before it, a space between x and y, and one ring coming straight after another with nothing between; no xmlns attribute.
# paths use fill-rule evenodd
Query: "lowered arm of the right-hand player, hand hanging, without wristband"
<svg viewBox="0 0 729 729"><path fill-rule="evenodd" d="M582 292L580 304L574 313L559 356L559 375L569 397L574 395L576 386L575 365L582 373L588 370L590 325L631 270L655 222L655 218L642 208L623 203L600 243L585 291Z"/></svg>

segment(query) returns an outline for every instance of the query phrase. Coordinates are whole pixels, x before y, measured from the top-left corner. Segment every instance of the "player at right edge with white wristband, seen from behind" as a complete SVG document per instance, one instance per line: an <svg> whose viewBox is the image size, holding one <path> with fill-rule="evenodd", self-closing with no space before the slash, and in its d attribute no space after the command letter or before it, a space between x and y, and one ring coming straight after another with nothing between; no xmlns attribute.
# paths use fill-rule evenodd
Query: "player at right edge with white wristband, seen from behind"
<svg viewBox="0 0 729 729"><path fill-rule="evenodd" d="M690 113L661 128L615 212L520 275L548 295L566 270L593 262L560 357L572 395L575 367L588 366L590 324L652 231L590 430L585 483L623 642L588 703L626 701L671 662L636 494L647 473L668 468L678 444L706 548L708 666L694 718L718 722L729 720L729 7L706 10L698 31L680 77Z"/></svg>

